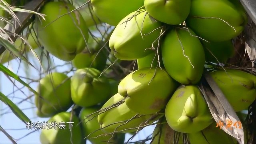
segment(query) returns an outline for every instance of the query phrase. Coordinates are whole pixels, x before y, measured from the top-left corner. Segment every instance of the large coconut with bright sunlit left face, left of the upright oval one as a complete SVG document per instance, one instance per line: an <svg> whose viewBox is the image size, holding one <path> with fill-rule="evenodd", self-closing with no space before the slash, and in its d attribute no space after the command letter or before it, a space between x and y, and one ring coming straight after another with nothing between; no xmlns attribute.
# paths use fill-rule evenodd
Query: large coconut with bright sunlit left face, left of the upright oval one
<svg viewBox="0 0 256 144"><path fill-rule="evenodd" d="M120 60L136 60L154 52L162 23L152 18L145 9L132 12L116 26L109 39L109 47Z"/></svg>

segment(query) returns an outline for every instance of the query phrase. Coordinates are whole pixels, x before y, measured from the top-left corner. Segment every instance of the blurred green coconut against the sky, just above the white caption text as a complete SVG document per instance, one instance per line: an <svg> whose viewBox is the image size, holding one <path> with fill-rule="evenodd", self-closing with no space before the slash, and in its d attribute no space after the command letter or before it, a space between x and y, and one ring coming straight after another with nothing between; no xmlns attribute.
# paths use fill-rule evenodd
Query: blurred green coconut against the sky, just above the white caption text
<svg viewBox="0 0 256 144"><path fill-rule="evenodd" d="M66 74L52 72L42 78L35 95L35 105L39 117L50 117L64 112L72 106L70 78Z"/></svg>

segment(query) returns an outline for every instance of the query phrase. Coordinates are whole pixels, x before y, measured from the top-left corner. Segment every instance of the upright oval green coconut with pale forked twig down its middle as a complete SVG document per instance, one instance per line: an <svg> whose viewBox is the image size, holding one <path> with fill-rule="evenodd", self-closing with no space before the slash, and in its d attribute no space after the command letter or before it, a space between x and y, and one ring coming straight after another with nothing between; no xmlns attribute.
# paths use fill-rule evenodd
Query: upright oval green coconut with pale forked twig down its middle
<svg viewBox="0 0 256 144"><path fill-rule="evenodd" d="M170 30L162 44L166 72L181 84L196 84L204 71L204 48L190 28Z"/></svg>

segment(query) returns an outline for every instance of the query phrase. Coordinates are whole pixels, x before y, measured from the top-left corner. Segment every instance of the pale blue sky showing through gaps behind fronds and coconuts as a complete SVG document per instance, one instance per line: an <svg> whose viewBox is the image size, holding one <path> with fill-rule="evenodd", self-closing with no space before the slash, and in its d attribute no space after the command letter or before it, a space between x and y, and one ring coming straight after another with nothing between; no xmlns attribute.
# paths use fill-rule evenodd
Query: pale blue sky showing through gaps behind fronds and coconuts
<svg viewBox="0 0 256 144"><path fill-rule="evenodd" d="M38 62L36 62L32 56L30 56L30 62L34 64L34 66L38 67ZM54 65L62 65L65 64L62 60L59 60L58 58L52 57L54 59ZM34 61L34 62L33 62ZM18 60L12 60L4 66L7 66L12 72L18 74L18 76L21 77L28 77L26 75L26 71L29 72L29 77L32 79L39 79L39 73L38 70L35 70L31 66L27 66L27 64L20 64ZM61 66L56 69L58 72L64 72L70 70L70 65L67 66ZM71 76L72 74L68 74L68 76ZM22 78L26 82L26 79ZM12 79L12 81L14 81ZM24 98L30 96L32 92L30 92L27 88L22 88L23 85L19 82L15 82L16 87L14 84L2 73L0 73L0 91L8 96L12 102L15 104L18 104L20 101L22 101ZM36 87L38 85L38 82L33 82L30 84L34 90L36 90ZM18 88L22 88L21 90L18 90ZM18 107L32 120L32 122L43 122L47 121L49 118L39 118L36 116L36 107L34 105L34 96L27 101L24 101L20 104L18 104ZM3 102L0 102L0 125L10 136L12 136L14 139L18 140L18 144L40 144L40 130L35 131L34 129L28 130L26 129L26 124L24 124L20 119L16 117L6 106ZM152 134L154 130L154 126L148 126L148 128L144 128L139 134L137 134L136 137L132 141L137 141L146 138L148 135ZM29 134L29 135L28 135ZM27 135L27 136L26 136ZM126 134L126 140L130 138L130 134ZM12 142L2 133L0 132L0 144L11 144Z"/></svg>

